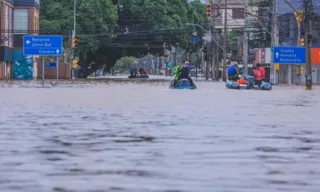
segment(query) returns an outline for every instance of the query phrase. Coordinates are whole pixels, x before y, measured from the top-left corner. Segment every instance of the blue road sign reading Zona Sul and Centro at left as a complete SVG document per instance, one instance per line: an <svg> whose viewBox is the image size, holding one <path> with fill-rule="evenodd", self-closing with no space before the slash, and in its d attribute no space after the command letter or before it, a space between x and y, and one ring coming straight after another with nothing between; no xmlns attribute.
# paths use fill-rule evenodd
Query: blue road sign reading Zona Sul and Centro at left
<svg viewBox="0 0 320 192"><path fill-rule="evenodd" d="M23 54L39 56L61 56L62 36L25 35L23 36Z"/></svg>

